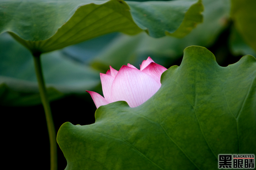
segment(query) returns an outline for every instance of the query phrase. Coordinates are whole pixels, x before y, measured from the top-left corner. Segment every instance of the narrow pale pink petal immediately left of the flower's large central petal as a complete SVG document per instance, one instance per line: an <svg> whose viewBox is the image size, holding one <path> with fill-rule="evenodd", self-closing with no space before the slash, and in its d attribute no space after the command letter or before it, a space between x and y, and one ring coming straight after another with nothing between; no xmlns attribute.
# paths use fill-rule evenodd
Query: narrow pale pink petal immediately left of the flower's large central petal
<svg viewBox="0 0 256 170"><path fill-rule="evenodd" d="M101 85L104 98L111 103L111 86L114 81L114 77L107 74L100 73Z"/></svg>

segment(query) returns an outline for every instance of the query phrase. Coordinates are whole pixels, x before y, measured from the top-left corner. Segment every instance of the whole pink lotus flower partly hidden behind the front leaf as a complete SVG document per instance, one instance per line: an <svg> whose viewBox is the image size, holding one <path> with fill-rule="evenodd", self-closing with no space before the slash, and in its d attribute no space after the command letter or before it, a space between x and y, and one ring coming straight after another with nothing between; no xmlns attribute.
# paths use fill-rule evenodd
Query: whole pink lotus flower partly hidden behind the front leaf
<svg viewBox="0 0 256 170"><path fill-rule="evenodd" d="M100 73L105 98L96 92L87 92L97 108L116 101L126 101L130 107L137 107L158 91L161 74L165 70L150 57L142 62L140 70L131 64L122 66L119 71L110 66L106 74Z"/></svg>

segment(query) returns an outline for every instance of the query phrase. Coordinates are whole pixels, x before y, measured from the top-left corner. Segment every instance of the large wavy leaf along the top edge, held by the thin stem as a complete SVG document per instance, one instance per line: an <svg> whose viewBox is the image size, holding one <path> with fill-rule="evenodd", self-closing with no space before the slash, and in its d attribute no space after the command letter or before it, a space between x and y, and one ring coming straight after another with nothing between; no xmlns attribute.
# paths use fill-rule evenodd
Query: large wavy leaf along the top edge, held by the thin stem
<svg viewBox="0 0 256 170"><path fill-rule="evenodd" d="M185 35L189 31L183 27L191 29L202 22L200 0L129 1L129 4L130 7L123 0L1 1L0 32L9 31L36 53L117 31L133 35L146 30L149 35L159 37L174 33L181 26L179 29ZM196 19L184 19L187 11Z"/></svg>

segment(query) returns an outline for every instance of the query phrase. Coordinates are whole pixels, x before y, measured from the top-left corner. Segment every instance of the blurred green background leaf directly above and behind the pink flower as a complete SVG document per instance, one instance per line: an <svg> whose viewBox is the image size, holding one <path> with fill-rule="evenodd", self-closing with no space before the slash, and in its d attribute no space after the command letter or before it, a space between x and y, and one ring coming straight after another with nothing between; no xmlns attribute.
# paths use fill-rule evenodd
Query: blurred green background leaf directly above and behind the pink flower
<svg viewBox="0 0 256 170"><path fill-rule="evenodd" d="M109 65L119 69L130 63L139 68L139 64L150 56L156 63L165 67L183 55L183 50L191 45L211 46L220 32L227 27L230 1L202 0L204 21L198 24L190 34L184 38L165 36L152 38L145 33L135 36L119 35L111 41L105 49L90 61L94 68L106 72ZM86 47L84 47L86 49ZM79 58L83 60L81 55Z"/></svg>

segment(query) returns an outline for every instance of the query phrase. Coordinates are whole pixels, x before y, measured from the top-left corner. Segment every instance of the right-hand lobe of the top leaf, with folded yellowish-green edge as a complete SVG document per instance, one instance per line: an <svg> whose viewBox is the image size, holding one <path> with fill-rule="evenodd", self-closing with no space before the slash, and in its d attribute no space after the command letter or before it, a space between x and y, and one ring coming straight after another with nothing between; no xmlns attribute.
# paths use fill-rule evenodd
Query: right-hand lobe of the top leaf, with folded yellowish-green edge
<svg viewBox="0 0 256 170"><path fill-rule="evenodd" d="M201 15L203 5L195 2L191 0L127 1L135 23L155 38L165 36L166 33L173 33L179 37L190 33L203 19Z"/></svg>

